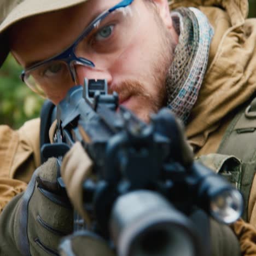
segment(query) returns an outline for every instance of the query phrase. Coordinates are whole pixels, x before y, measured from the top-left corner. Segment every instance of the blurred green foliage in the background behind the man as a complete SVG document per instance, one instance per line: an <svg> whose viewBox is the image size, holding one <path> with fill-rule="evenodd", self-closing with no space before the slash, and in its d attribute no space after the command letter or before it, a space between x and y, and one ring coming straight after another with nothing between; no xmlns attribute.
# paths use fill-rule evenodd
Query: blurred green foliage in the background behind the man
<svg viewBox="0 0 256 256"><path fill-rule="evenodd" d="M249 0L249 16L256 17L256 0ZM0 124L18 128L24 121L39 117L43 99L21 82L21 67L8 56L0 69Z"/></svg>

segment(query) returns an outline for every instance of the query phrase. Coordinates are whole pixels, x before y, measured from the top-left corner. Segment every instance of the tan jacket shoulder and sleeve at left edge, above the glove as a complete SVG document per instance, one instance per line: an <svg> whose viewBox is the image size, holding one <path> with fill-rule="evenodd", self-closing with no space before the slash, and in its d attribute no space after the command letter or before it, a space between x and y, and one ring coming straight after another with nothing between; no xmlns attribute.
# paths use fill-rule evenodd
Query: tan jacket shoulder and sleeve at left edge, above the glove
<svg viewBox="0 0 256 256"><path fill-rule="evenodd" d="M26 189L40 165L39 126L39 119L26 122L18 131L0 125L0 212Z"/></svg>

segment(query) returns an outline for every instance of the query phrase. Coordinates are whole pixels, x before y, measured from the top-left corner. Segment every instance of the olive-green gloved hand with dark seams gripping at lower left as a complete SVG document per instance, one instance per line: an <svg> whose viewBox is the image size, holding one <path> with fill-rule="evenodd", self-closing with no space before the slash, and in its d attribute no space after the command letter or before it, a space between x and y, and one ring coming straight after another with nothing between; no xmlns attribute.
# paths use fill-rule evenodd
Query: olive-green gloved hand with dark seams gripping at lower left
<svg viewBox="0 0 256 256"><path fill-rule="evenodd" d="M0 214L0 255L59 255L62 236L71 234L73 210L59 194L56 159L40 166L25 193L14 197Z"/></svg>

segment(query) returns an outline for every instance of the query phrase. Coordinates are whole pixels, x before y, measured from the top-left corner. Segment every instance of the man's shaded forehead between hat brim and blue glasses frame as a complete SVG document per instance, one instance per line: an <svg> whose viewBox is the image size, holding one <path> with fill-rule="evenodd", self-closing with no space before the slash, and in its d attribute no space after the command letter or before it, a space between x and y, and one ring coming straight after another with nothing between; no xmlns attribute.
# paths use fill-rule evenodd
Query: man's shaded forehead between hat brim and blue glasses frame
<svg viewBox="0 0 256 256"><path fill-rule="evenodd" d="M22 20L10 29L10 48L22 66L31 66L65 50L96 16L119 2L89 0Z"/></svg>

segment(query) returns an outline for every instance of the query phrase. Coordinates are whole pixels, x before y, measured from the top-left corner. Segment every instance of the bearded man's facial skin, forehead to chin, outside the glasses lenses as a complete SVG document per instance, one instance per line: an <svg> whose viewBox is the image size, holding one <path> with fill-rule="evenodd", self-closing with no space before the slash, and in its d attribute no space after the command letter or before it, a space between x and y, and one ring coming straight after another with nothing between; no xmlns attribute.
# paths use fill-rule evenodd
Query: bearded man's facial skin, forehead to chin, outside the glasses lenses
<svg viewBox="0 0 256 256"><path fill-rule="evenodd" d="M27 18L10 30L11 52L23 67L59 54L77 39L95 16L118 2L120 0L89 0L69 9ZM85 77L107 79L109 92L117 91L120 104L145 121L149 120L150 113L165 104L165 79L174 49L170 15L165 15L167 1L155 2L160 3L158 10L149 0L132 3L139 21L132 30L132 38L127 38L129 43L121 54L109 58L106 68L75 67L77 83L83 84ZM101 58L99 54L98 58L108 61L104 55ZM43 90L57 104L71 86L45 85Z"/></svg>

